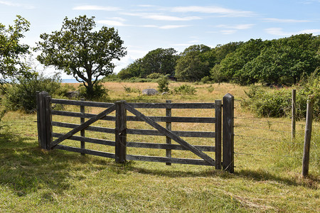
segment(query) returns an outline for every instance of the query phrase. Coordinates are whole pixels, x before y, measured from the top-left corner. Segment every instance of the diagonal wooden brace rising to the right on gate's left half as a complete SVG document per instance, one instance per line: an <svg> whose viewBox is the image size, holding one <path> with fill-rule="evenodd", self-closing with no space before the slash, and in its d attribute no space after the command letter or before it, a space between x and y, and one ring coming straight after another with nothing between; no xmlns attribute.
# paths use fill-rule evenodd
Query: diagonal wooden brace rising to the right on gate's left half
<svg viewBox="0 0 320 213"><path fill-rule="evenodd" d="M92 119L89 119L89 120L85 121L85 123L81 124L80 126L76 127L75 129L69 131L68 133L65 133L64 136L62 136L62 137L56 139L55 141L53 141L51 148L53 148L54 146L58 145L58 143L60 143L61 141L70 138L70 136L73 136L73 134L77 133L78 131L87 128L87 126L90 126L90 124L93 124L95 121L103 118L107 114L110 114L114 110L115 110L115 105L113 104L112 107L106 109L105 111L100 112L100 114L97 114L97 116L93 117Z"/></svg>

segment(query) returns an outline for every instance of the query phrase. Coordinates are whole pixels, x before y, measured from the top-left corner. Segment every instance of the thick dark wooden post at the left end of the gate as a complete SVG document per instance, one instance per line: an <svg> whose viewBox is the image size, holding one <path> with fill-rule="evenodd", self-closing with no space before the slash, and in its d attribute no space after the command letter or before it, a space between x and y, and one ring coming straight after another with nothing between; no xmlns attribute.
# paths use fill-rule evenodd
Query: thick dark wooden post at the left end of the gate
<svg viewBox="0 0 320 213"><path fill-rule="evenodd" d="M48 92L37 92L38 144L50 150L52 142L51 97Z"/></svg>

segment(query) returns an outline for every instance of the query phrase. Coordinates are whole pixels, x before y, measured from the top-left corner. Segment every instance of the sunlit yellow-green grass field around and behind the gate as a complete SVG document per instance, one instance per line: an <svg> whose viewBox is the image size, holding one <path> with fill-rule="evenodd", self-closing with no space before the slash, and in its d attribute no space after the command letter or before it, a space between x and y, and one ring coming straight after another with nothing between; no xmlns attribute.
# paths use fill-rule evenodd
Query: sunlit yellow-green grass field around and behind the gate
<svg viewBox="0 0 320 213"><path fill-rule="evenodd" d="M174 82L170 88L184 84ZM126 92L156 88L156 83L106 82L110 101L128 102L213 102L230 92L235 99L245 97L233 84L194 85L195 95L169 94L144 97ZM129 94L129 95L128 95ZM0 212L319 212L319 123L314 123L309 177L301 178L304 121L297 122L296 141L290 140L290 120L255 118L235 102L235 173L208 166L134 161L117 165L113 159L82 156L65 151L38 148L35 114L9 112L0 130ZM78 107L67 110L77 111ZM102 109L87 109L97 113ZM150 109L146 114L164 115ZM210 116L212 111L174 110L173 116ZM54 116L63 121L63 117ZM80 119L74 119L79 123ZM72 122L70 118L65 122ZM129 122L130 128L148 128ZM112 126L99 121L95 126ZM212 126L173 124L173 129L206 131ZM55 129L55 131L68 131ZM89 135L89 131L86 132ZM95 133L97 138L109 135ZM130 141L164 142L163 137L132 136ZM210 144L209 139L193 144ZM65 144L80 146L75 141ZM112 152L105 146L86 144ZM165 155L164 151L131 149L129 153ZM214 155L214 153L209 153ZM173 151L173 155L194 156Z"/></svg>

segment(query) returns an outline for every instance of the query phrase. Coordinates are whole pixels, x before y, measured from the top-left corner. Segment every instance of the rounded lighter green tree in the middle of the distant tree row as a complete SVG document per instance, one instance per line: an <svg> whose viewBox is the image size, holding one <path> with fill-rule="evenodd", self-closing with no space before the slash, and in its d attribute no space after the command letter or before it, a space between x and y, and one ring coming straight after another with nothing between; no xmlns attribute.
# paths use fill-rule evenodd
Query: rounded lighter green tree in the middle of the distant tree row
<svg viewBox="0 0 320 213"><path fill-rule="evenodd" d="M192 45L181 53L176 65L178 80L198 81L210 75L214 52L206 45Z"/></svg>

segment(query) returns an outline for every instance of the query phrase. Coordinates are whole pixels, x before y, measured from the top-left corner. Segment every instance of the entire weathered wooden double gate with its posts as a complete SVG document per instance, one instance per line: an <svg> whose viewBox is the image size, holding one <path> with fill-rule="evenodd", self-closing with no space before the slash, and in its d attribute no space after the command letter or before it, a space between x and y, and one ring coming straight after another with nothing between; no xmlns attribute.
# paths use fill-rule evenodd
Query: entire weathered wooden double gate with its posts
<svg viewBox="0 0 320 213"><path fill-rule="evenodd" d="M52 104L79 106L80 112L53 110ZM106 109L100 114L88 114L85 113L85 107L102 107ZM166 116L145 116L137 110L141 108L166 109ZM213 109L215 117L171 116L171 109ZM82 154L99 155L114 158L117 163L124 163L126 160L144 160L166 163L166 165L171 165L171 163L212 165L217 170L223 168L223 170L233 173L233 109L234 99L231 94L226 94L223 97L223 104L221 100L215 100L214 103L172 103L171 101L166 101L166 103L127 103L124 101L102 103L52 99L47 92L40 92L37 94L38 141L39 146L46 150L55 148ZM112 111L116 111L115 116L109 116ZM131 112L134 116L127 116L127 111ZM53 115L78 117L81 119L81 124L52 121ZM98 120L114 121L114 128L90 126ZM128 129L127 121L144 121L155 130ZM166 127L156 122L166 122ZM215 124L215 131L171 131L171 124L174 122ZM68 133L54 133L53 126L65 127L72 130ZM85 131L112 133L114 134L114 141L85 137ZM80 136L75 136L74 134L78 132L80 132ZM166 143L130 142L127 141L127 134L165 136ZM193 146L181 137L215 138L214 146ZM53 141L53 138L56 139ZM80 148L61 145L60 143L66 139L80 141ZM178 144L171 143L172 140ZM114 146L114 153L87 149L85 148L85 143ZM128 147L165 149L166 156L129 155L127 154ZM201 159L172 158L172 150L191 151ZM204 152L215 152L215 159L213 160L213 158Z"/></svg>

